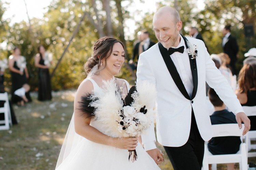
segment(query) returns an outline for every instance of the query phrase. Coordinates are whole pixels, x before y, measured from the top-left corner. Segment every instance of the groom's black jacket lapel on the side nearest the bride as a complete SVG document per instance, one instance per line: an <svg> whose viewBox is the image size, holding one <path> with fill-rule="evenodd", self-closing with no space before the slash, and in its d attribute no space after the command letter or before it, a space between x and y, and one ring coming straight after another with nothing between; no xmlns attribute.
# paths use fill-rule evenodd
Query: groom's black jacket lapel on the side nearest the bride
<svg viewBox="0 0 256 170"><path fill-rule="evenodd" d="M174 63L173 63L173 61L172 61L168 51L167 51L167 49L165 47L163 47L160 42L158 42L158 47L159 47L160 53L161 53L161 55L163 57L163 61L165 61L167 69L170 72L171 77L172 77L174 83L179 88L179 90L181 91L182 95L186 99L190 100L190 97L189 97L189 95L187 93L187 90L186 90L184 84L182 83L181 77L180 77L180 75L179 75L179 73L178 73L178 71L177 71L177 69L176 69L176 67L175 67L175 65L174 65Z"/></svg>

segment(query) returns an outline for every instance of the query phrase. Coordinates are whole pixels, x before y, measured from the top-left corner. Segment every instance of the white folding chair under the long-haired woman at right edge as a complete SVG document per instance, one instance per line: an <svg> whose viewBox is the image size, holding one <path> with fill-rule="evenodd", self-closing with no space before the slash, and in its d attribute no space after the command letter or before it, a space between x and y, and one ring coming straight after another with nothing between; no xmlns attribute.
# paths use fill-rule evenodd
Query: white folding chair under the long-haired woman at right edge
<svg viewBox="0 0 256 170"><path fill-rule="evenodd" d="M246 116L256 116L256 106L242 106ZM252 124L253 122L251 122ZM255 122L254 122L255 123ZM256 144L251 144L251 140L256 141L256 131L248 132L248 151L256 150ZM248 157L256 157L256 152L248 152Z"/></svg>

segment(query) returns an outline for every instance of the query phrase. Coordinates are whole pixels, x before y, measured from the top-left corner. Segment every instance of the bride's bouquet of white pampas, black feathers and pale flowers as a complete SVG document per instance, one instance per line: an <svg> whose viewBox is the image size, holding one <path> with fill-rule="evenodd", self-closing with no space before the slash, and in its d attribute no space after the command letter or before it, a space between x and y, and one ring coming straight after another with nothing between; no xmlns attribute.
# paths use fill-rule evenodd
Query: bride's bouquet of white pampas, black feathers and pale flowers
<svg viewBox="0 0 256 170"><path fill-rule="evenodd" d="M102 91L82 96L79 109L82 116L99 121L111 136L138 137L154 123L155 99L155 86L147 81L132 86L126 96L112 79L104 82ZM136 150L129 151L128 160L136 159Z"/></svg>

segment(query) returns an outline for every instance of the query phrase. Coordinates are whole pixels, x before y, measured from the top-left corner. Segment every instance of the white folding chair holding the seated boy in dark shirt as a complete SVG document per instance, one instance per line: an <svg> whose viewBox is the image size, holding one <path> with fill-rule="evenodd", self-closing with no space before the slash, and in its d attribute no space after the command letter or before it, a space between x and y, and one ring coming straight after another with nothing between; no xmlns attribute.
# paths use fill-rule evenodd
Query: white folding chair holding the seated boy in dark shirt
<svg viewBox="0 0 256 170"><path fill-rule="evenodd" d="M212 125L213 137L221 136L240 136L242 141L242 129L238 128L238 124L216 124ZM209 164L228 164L228 163L239 163L239 168L241 170L247 170L247 144L248 143L248 133L245 135L245 143L241 143L240 150L236 154L225 154L225 155L212 155L208 148L207 142L204 145L204 157L203 157L203 170L209 170Z"/></svg>

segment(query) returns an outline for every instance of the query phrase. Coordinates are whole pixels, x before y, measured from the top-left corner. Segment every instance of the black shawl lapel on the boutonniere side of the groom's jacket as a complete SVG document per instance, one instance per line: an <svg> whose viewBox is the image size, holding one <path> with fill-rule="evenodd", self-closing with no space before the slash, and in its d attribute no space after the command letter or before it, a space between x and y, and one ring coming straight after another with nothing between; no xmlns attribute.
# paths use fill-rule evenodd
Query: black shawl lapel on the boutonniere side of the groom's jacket
<svg viewBox="0 0 256 170"><path fill-rule="evenodd" d="M182 38L184 39L185 41L185 45L186 45L186 48L188 49L188 44L187 44L187 38L184 37L183 35L181 35ZM189 56L189 63L190 63L190 69L191 69L191 73L192 73L192 78L193 78L193 92L192 92L192 96L191 96L191 100L195 98L196 96L196 93L197 93L197 86L198 86L198 77L197 77L197 63L196 63L196 59L191 59L192 56L191 55L188 55Z"/></svg>

